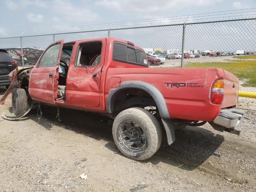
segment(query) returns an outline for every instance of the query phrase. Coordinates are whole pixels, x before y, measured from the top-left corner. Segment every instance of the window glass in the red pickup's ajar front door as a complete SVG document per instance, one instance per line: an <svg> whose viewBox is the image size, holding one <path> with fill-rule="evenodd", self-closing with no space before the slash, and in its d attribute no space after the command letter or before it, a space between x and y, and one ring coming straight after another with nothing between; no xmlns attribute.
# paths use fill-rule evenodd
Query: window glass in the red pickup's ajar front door
<svg viewBox="0 0 256 192"><path fill-rule="evenodd" d="M54 67L57 65L60 52L60 43L49 47L38 64L38 67Z"/></svg>

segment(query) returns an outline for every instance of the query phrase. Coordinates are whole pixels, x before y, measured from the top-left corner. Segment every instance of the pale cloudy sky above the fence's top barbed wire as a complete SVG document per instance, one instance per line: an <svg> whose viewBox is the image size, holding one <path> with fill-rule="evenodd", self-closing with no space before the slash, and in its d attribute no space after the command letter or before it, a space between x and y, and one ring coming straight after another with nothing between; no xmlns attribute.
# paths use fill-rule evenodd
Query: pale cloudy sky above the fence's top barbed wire
<svg viewBox="0 0 256 192"><path fill-rule="evenodd" d="M256 8L256 0L0 0L0 34Z"/></svg>

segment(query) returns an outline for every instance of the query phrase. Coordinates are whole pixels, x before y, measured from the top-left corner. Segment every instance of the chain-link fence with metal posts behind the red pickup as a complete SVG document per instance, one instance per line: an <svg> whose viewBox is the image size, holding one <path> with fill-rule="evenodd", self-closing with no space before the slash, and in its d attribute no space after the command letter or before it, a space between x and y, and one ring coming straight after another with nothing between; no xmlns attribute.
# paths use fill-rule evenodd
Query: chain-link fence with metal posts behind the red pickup
<svg viewBox="0 0 256 192"><path fill-rule="evenodd" d="M143 47L150 67L224 68L238 76L241 91L250 92L249 97L256 96L255 18L8 37L0 38L0 48L6 49L20 66L27 67L34 65L54 41L106 36ZM154 66L150 58L165 60ZM238 105L254 109L255 103L252 98L240 98Z"/></svg>

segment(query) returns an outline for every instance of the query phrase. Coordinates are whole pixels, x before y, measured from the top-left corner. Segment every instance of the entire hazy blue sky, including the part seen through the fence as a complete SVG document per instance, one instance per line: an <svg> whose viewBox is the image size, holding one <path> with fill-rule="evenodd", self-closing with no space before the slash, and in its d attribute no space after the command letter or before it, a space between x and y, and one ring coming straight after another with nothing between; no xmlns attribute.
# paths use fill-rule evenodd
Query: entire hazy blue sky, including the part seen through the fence
<svg viewBox="0 0 256 192"><path fill-rule="evenodd" d="M46 29L56 33L60 28L115 23L132 20L146 20L145 24L174 21L173 18L154 18L194 15L226 10L241 10L235 18L252 16L256 18L256 0L0 0L0 37L42 34ZM235 11L236 12L236 11ZM234 12L234 13L235 13ZM228 12L224 12L225 14ZM218 18L218 13L216 13ZM208 14L211 18L211 14ZM198 16L198 15L196 15ZM186 16L189 22L196 16ZM215 16L215 17L216 17ZM230 14L220 17L230 16ZM180 17L182 18L182 17ZM199 17L200 18L200 17ZM228 17L230 19L233 16ZM153 19L149 21L149 19ZM218 18L219 19L219 18ZM124 25L136 24L126 22ZM107 24L106 26L114 26ZM104 26L104 25L103 25ZM255 51L256 20L197 24L186 26L185 49L187 50L247 50ZM78 28L81 29L81 28ZM31 30L41 30L31 32ZM23 34L23 36L24 36ZM24 37L22 46L47 47L53 40L65 42L108 36L107 31L76 34L56 34ZM181 49L182 25L156 28L111 30L110 36L126 39L143 48ZM20 38L1 39L0 47L20 47Z"/></svg>

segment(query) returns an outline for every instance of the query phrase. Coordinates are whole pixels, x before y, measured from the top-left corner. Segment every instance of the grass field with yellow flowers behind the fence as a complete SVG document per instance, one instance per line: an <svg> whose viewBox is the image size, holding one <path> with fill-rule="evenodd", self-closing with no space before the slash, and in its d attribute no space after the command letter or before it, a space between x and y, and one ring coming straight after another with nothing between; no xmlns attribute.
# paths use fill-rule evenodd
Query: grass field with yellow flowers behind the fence
<svg viewBox="0 0 256 192"><path fill-rule="evenodd" d="M242 85L256 87L256 61L254 60L229 60L229 62L190 62L185 68L223 68L240 79L246 79Z"/></svg>

